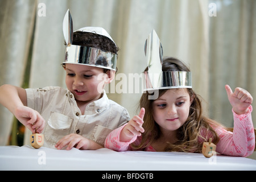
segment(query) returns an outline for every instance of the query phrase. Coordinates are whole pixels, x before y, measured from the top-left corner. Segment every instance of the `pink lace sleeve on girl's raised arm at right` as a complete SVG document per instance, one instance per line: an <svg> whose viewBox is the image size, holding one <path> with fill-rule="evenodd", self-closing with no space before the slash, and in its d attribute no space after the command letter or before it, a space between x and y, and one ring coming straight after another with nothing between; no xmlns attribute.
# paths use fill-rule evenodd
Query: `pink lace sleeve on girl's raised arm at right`
<svg viewBox="0 0 256 182"><path fill-rule="evenodd" d="M252 106L249 106L249 112L246 114L238 115L233 111L233 133L222 128L215 129L220 137L220 141L216 146L216 151L218 153L243 157L253 153L255 147L255 135L253 121L251 119L251 111L253 111Z"/></svg>

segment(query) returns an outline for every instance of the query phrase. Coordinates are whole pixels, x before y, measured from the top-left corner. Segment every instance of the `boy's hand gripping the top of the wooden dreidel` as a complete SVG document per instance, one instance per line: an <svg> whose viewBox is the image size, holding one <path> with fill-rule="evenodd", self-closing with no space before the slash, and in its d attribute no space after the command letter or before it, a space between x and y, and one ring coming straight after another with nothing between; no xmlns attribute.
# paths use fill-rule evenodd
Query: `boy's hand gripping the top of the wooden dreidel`
<svg viewBox="0 0 256 182"><path fill-rule="evenodd" d="M38 111L31 109L27 106L19 106L16 108L15 117L24 126L32 131L32 133L42 133L46 122L44 118L38 113Z"/></svg>

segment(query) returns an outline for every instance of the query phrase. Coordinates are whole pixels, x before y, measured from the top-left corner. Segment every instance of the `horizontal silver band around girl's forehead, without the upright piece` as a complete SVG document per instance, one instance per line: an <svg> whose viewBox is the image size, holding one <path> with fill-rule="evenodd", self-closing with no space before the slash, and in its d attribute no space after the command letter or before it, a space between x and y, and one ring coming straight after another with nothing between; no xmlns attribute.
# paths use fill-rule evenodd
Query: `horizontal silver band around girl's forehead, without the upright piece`
<svg viewBox="0 0 256 182"><path fill-rule="evenodd" d="M192 88L191 72L160 72L151 74L144 72L144 81L146 89L175 89L175 88Z"/></svg>

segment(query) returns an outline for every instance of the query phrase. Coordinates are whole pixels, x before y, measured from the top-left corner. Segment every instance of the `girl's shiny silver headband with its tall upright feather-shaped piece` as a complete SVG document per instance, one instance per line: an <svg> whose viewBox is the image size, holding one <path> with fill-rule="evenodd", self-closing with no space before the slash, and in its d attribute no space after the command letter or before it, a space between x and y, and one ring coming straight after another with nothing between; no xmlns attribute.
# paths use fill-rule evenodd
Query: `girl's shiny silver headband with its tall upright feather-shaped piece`
<svg viewBox="0 0 256 182"><path fill-rule="evenodd" d="M144 51L148 65L148 71L144 72L144 90L192 88L191 72L162 71L163 48L155 30L148 36Z"/></svg>

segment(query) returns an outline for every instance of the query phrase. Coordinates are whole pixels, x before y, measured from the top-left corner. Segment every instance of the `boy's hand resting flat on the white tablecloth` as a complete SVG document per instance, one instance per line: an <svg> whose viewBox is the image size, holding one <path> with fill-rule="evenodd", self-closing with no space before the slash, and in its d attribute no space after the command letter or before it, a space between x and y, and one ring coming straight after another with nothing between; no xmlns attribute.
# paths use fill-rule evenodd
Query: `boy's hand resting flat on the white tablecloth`
<svg viewBox="0 0 256 182"><path fill-rule="evenodd" d="M100 144L97 144L93 140L82 137L77 134L69 134L63 138L61 138L56 144L55 147L60 150L63 147L67 146L66 150L71 150L72 147L81 150L97 150L102 148Z"/></svg>

